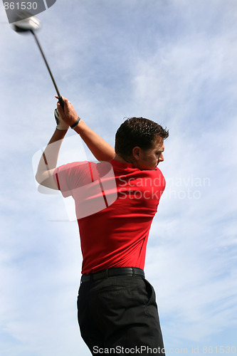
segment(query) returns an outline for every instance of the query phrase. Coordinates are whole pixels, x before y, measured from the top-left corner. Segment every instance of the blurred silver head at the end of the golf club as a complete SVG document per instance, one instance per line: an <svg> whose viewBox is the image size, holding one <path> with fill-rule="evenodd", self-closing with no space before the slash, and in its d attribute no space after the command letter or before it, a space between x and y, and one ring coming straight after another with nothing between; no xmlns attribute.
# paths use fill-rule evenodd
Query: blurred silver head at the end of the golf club
<svg viewBox="0 0 237 356"><path fill-rule="evenodd" d="M26 16L28 17L26 18ZM12 23L12 26L16 32L36 31L38 28L41 28L41 21L36 16L31 16L30 13L21 11L17 14L16 21Z"/></svg>

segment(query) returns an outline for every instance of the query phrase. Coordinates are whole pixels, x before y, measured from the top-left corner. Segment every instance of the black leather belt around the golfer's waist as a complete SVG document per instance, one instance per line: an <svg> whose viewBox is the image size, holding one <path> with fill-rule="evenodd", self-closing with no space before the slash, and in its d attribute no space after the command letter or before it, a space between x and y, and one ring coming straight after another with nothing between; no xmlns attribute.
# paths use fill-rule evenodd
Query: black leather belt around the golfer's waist
<svg viewBox="0 0 237 356"><path fill-rule="evenodd" d="M142 276L144 278L144 271L137 267L108 268L100 272L83 274L80 283L99 281L112 276Z"/></svg>

